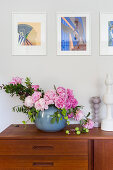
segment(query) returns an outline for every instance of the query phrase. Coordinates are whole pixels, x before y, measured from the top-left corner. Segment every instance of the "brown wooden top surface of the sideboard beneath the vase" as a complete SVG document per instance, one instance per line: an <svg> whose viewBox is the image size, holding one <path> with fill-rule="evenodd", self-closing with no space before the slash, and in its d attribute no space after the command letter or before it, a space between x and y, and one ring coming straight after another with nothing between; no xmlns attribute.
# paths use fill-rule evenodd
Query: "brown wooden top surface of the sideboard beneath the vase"
<svg viewBox="0 0 113 170"><path fill-rule="evenodd" d="M73 129L77 125L69 125L66 129ZM70 135L65 133L65 130L59 132L43 132L36 128L34 124L25 125L19 124L19 127L10 125L2 133L0 140L3 139L38 139L38 140L74 140L74 139L113 139L113 132L102 131L100 128L93 128L89 133L76 135L71 132Z"/></svg>

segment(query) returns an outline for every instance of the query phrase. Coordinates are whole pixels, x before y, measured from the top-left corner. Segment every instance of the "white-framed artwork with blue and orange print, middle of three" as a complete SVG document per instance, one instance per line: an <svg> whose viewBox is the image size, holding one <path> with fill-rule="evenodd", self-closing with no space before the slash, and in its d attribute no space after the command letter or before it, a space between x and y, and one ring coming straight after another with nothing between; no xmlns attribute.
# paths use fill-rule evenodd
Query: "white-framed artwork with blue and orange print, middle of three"
<svg viewBox="0 0 113 170"><path fill-rule="evenodd" d="M90 15L57 14L57 55L91 55Z"/></svg>

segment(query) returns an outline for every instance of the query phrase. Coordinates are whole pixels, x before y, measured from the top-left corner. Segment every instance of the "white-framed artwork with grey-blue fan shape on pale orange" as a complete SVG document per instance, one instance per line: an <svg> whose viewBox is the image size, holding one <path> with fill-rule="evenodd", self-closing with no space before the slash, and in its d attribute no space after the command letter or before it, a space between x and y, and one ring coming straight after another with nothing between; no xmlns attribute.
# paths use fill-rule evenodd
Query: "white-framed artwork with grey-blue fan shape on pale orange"
<svg viewBox="0 0 113 170"><path fill-rule="evenodd" d="M12 13L12 54L46 55L46 13Z"/></svg>

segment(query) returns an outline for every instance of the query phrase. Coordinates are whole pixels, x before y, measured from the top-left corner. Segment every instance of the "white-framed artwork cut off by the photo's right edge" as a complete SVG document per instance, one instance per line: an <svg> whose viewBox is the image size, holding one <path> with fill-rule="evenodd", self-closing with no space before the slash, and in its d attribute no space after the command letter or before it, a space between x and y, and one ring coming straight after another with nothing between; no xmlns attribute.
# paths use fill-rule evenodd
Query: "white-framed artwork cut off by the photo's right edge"
<svg viewBox="0 0 113 170"><path fill-rule="evenodd" d="M113 13L100 13L100 55L113 55Z"/></svg>

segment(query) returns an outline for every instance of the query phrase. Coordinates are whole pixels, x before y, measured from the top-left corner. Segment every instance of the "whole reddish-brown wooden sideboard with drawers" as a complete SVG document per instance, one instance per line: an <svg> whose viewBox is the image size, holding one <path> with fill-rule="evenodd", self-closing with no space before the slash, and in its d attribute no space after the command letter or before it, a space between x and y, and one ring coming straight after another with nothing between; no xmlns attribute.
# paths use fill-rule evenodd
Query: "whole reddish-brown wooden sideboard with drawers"
<svg viewBox="0 0 113 170"><path fill-rule="evenodd" d="M68 126L72 129L75 126ZM87 134L9 126L0 134L0 170L113 170L113 132Z"/></svg>

